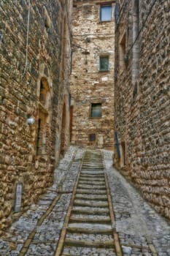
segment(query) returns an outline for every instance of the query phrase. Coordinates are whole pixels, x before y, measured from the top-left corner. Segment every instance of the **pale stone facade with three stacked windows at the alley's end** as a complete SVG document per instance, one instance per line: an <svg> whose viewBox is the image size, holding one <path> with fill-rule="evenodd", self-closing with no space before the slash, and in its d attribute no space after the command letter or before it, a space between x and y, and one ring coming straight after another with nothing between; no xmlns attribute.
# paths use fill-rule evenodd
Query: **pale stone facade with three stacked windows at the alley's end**
<svg viewBox="0 0 170 256"><path fill-rule="evenodd" d="M113 148L115 1L73 2L72 143Z"/></svg>

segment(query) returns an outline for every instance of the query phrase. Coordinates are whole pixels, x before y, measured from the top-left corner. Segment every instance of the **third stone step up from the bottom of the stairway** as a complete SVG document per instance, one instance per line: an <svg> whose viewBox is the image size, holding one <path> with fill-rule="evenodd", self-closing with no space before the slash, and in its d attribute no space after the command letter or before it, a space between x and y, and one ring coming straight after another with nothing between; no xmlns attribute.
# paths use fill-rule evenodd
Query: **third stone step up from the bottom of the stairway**
<svg viewBox="0 0 170 256"><path fill-rule="evenodd" d="M100 223L100 224L104 224L104 223L110 223L111 222L111 219L109 217L105 217L105 218L95 218L93 215L92 216L89 216L89 217L78 217L76 215L72 216L70 219L69 219L69 222L85 222L85 223Z"/></svg>

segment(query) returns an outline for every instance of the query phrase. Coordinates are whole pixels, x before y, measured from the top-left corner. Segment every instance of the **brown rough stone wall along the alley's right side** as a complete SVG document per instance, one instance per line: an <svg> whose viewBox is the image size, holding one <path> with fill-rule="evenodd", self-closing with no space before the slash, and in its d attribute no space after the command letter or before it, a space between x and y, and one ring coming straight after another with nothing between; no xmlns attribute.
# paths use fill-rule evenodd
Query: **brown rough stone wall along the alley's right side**
<svg viewBox="0 0 170 256"><path fill-rule="evenodd" d="M117 1L115 166L170 218L170 1Z"/></svg>

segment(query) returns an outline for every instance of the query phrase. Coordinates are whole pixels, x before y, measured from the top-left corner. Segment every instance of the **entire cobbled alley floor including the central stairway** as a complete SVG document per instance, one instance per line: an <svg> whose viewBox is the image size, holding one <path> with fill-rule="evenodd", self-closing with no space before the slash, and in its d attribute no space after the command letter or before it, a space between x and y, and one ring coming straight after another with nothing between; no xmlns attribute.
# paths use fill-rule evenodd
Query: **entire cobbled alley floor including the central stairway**
<svg viewBox="0 0 170 256"><path fill-rule="evenodd" d="M102 160L100 160L100 157L98 158L98 155L102 156ZM90 162L87 162L88 159L90 159ZM88 167L91 170L88 170ZM110 211L109 213L112 221L111 229L105 221L96 224L96 227L94 227L94 223L98 219L95 209L98 210L98 213L107 209L102 194L104 188L101 181L98 180L98 178L102 180L102 168L108 180L108 189L110 189L108 201L109 196L112 198L112 202L109 202L113 206L113 212ZM98 178L96 178L97 172ZM90 176L90 173L93 173L91 180L94 183L97 181L97 184L93 184L93 182L91 182L91 185L84 184L83 176L86 177L85 180L87 181L87 176ZM72 195L77 187L78 176L81 178L81 184L77 188L76 205L75 201L73 204ZM83 186L86 186L86 189ZM95 203L93 205L94 195L89 195L91 191L95 190L95 187L96 196L98 194L99 197L95 203L98 206L100 203L103 204L103 206L100 205L100 208ZM78 197L82 194L84 197L88 197L84 210L82 210L83 199L78 200ZM93 197L93 200L90 197ZM103 197L103 200L101 200L101 197ZM88 204L89 200L92 202L91 205ZM81 206L79 203L82 203ZM73 205L74 208L72 208ZM76 208L79 208L78 214ZM87 208L86 214L85 208ZM72 211L74 216L70 218ZM84 214L82 211L84 211ZM90 211L91 215L89 215ZM72 219L75 221L76 214L81 221L78 224L72 222L70 225L68 219L69 221ZM83 218L87 219L87 223L83 221ZM90 218L94 220L88 224ZM102 215L102 218L107 219L104 215ZM102 224L103 227L101 227ZM85 228L88 230L86 233ZM82 231L83 229L84 231ZM107 232L102 233L102 230L107 230ZM116 234L116 236L112 237L112 234ZM65 238L67 238L67 241ZM110 239L111 241L113 239L112 244L107 242ZM87 241L88 243L86 243ZM142 199L139 192L131 187L131 184L125 181L125 178L112 167L111 151L70 146L65 157L61 159L58 168L55 169L53 186L49 187L47 192L40 197L38 203L31 206L1 236L0 255L168 256L170 255L169 244L169 222L155 213L155 210Z"/></svg>

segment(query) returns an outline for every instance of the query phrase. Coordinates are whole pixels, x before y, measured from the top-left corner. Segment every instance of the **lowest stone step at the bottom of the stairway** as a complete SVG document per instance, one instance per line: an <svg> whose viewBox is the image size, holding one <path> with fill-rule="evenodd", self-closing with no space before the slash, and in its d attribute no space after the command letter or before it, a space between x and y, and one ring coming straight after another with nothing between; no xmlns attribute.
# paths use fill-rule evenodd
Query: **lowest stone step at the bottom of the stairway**
<svg viewBox="0 0 170 256"><path fill-rule="evenodd" d="M80 246L80 247L97 247L97 248L113 248L114 242L110 241L80 241L77 239L66 238L66 246Z"/></svg>

